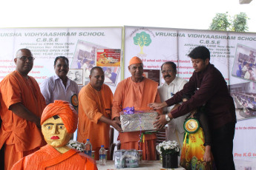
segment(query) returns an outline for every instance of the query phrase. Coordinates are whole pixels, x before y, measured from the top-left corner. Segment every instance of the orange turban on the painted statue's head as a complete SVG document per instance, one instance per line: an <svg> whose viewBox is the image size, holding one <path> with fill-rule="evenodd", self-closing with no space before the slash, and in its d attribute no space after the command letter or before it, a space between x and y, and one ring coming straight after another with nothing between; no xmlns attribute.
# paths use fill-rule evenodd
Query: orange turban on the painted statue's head
<svg viewBox="0 0 256 170"><path fill-rule="evenodd" d="M54 103L48 104L42 113L41 125L45 120L55 115L62 118L68 133L76 131L78 121L77 112L68 101L54 101Z"/></svg>

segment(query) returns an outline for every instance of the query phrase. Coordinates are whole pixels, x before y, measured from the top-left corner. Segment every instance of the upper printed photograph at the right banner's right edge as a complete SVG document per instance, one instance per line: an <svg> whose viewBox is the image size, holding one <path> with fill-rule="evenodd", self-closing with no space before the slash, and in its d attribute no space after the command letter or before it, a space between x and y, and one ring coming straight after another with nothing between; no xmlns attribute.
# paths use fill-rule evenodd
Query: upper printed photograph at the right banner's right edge
<svg viewBox="0 0 256 170"><path fill-rule="evenodd" d="M256 50L243 44L237 44L232 75L246 81L256 82Z"/></svg>

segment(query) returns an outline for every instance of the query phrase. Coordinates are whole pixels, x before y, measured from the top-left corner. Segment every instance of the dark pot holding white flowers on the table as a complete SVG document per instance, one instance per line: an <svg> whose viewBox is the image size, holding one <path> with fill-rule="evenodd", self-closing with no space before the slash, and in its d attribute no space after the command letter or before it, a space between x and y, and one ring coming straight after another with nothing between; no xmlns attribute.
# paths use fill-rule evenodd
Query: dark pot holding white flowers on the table
<svg viewBox="0 0 256 170"><path fill-rule="evenodd" d="M178 154L162 154L163 168L177 169L178 168Z"/></svg>

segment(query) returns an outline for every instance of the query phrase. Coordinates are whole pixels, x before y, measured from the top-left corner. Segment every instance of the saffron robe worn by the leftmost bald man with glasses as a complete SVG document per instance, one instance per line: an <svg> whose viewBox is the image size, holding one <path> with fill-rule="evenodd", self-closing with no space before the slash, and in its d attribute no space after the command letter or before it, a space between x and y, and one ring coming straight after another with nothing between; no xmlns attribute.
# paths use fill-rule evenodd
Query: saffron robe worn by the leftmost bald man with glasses
<svg viewBox="0 0 256 170"><path fill-rule="evenodd" d="M11 72L0 83L0 148L4 146L4 166L10 169L15 161L44 146L41 129L36 124L20 118L9 110L15 103L22 103L30 112L41 118L46 103L36 80L24 78L17 71ZM14 154L17 152L16 154Z"/></svg>

